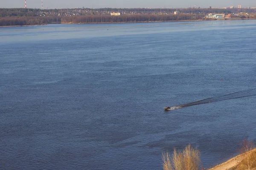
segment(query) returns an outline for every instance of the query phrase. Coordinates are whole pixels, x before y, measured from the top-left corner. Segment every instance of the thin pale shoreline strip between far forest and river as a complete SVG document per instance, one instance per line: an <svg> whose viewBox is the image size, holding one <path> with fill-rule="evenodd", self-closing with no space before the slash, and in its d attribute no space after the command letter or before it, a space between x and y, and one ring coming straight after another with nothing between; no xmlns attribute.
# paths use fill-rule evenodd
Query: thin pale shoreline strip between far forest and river
<svg viewBox="0 0 256 170"><path fill-rule="evenodd" d="M256 20L256 18L222 18L218 19L222 21L226 20ZM188 22L188 21L218 21L218 20L172 20L172 21L139 21L139 22L105 22L105 23L49 23L49 24L121 24L121 23L168 23L168 22ZM44 26L49 24L42 25L23 25L23 26ZM0 27L22 27L22 26L0 26Z"/></svg>

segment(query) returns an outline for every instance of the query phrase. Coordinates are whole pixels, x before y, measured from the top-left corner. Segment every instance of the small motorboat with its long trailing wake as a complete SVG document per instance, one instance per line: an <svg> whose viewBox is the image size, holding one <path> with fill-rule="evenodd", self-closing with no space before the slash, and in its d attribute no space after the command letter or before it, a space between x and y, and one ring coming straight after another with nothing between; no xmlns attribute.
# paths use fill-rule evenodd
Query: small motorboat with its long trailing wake
<svg viewBox="0 0 256 170"><path fill-rule="evenodd" d="M221 101L221 100L229 100L229 99L238 99L238 98L249 97L249 96L256 96L256 88L253 88L253 89L250 89L250 90L238 91L238 92L235 92L235 93L226 94L226 95L219 96L219 97L212 97L212 98L202 99L202 100L198 100L198 101L183 104L183 105L165 107L164 110L169 111L169 110L185 108L185 107L193 106L193 105L201 105L201 104L204 104L204 103L212 103L212 102L218 102L218 101Z"/></svg>

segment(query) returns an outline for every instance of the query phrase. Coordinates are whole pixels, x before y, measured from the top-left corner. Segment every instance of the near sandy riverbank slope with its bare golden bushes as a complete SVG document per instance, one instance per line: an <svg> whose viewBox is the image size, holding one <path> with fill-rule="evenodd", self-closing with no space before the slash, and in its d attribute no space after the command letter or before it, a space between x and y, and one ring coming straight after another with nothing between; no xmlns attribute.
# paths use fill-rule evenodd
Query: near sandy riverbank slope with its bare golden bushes
<svg viewBox="0 0 256 170"><path fill-rule="evenodd" d="M256 170L256 148L253 141L243 140L241 153L209 170ZM162 154L163 170L202 170L200 152L189 144L182 151L174 149L172 155Z"/></svg>

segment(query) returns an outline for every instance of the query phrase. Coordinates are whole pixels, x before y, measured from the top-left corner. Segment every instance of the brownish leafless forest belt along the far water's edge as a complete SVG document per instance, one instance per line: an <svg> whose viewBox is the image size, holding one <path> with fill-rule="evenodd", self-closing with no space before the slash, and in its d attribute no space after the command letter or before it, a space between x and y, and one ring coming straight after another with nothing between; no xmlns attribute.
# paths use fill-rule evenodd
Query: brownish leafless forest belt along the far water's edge
<svg viewBox="0 0 256 170"><path fill-rule="evenodd" d="M256 18L256 14L242 15L240 18ZM181 20L204 20L203 14L134 14L134 15L84 15L84 16L49 16L49 17L0 17L0 26L32 26L52 23L136 23L167 22Z"/></svg>

